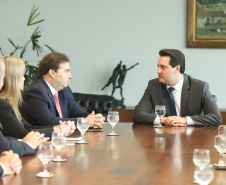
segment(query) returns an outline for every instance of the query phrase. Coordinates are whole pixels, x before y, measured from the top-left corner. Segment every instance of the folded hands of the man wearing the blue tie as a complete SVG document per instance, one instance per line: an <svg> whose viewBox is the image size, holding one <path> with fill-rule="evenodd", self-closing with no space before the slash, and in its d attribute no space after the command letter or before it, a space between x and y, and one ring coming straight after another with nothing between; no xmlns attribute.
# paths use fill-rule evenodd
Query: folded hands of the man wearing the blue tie
<svg viewBox="0 0 226 185"><path fill-rule="evenodd" d="M172 126L172 127L186 127L187 126L187 118L186 117L179 117L179 116L163 117L161 122L166 126Z"/></svg>

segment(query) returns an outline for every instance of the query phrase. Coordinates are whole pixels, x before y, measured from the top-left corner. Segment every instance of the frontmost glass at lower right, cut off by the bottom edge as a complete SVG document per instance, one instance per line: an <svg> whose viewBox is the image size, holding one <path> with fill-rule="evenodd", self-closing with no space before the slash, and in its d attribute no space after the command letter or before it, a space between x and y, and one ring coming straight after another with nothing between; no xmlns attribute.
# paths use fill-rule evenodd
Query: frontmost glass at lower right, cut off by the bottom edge
<svg viewBox="0 0 226 185"><path fill-rule="evenodd" d="M201 185L208 185L214 178L213 165L206 165L204 168L195 167L194 178Z"/></svg>

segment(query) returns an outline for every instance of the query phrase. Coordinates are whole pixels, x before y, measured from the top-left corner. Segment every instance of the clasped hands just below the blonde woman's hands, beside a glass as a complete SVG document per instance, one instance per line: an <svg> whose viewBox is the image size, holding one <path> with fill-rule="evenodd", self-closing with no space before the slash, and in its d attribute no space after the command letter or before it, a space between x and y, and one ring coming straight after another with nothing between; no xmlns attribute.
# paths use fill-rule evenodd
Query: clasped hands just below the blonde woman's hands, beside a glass
<svg viewBox="0 0 226 185"><path fill-rule="evenodd" d="M22 142L28 142L33 149L36 149L40 143L46 142L49 137L44 137L44 134L31 131L22 140Z"/></svg>

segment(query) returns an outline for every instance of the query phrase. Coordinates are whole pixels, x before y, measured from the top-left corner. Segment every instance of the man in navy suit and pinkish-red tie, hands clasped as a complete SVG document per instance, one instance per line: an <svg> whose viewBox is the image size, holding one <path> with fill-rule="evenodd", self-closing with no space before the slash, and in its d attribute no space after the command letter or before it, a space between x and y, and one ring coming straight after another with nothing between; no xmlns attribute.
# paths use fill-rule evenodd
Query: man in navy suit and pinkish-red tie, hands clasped
<svg viewBox="0 0 226 185"><path fill-rule="evenodd" d="M69 59L61 53L50 53L39 63L39 77L23 92L21 113L32 125L58 125L59 120L75 121L88 117L90 127L102 127L101 114L90 115L75 102L68 83L72 78Z"/></svg>

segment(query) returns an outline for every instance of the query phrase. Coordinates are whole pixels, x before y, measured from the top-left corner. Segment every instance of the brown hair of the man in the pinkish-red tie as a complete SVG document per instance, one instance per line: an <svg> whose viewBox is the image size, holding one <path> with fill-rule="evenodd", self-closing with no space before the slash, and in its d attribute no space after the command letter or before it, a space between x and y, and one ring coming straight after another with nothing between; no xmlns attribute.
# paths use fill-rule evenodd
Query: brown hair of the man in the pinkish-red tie
<svg viewBox="0 0 226 185"><path fill-rule="evenodd" d="M69 62L69 58L58 52L49 53L39 62L38 74L43 76L49 72L50 69L57 71L61 63Z"/></svg>

